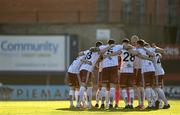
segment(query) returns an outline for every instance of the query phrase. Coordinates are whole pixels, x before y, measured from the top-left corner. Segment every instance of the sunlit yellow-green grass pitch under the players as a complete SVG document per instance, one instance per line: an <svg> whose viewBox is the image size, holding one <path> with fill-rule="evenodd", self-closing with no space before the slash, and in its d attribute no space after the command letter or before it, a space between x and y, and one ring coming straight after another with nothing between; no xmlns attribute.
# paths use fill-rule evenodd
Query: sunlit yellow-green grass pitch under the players
<svg viewBox="0 0 180 115"><path fill-rule="evenodd" d="M2 101L0 102L0 115L180 115L180 100L170 100L169 102L170 109L160 110L124 110L122 101L118 109L79 110L69 109L69 101ZM137 101L135 101L136 105Z"/></svg>

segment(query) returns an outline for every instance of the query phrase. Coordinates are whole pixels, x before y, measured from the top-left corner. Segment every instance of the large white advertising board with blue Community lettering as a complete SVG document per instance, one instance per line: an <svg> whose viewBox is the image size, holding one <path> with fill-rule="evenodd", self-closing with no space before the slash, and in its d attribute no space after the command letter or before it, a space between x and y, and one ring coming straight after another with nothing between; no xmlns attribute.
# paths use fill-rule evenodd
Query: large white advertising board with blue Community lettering
<svg viewBox="0 0 180 115"><path fill-rule="evenodd" d="M65 36L0 36L0 71L64 71Z"/></svg>

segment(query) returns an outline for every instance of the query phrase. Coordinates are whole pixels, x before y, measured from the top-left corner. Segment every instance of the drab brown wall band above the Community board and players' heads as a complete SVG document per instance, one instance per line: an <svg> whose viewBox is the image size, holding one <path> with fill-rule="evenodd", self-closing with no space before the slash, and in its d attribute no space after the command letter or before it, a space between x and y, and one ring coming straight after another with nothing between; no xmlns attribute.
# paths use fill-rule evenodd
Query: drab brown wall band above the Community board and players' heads
<svg viewBox="0 0 180 115"><path fill-rule="evenodd" d="M109 29L110 37L120 42L124 37L137 34L142 39L157 43L170 43L163 26L114 24L1 24L1 35L60 35L75 34L81 49L94 46L97 29ZM161 30L161 31L160 31ZM170 33L168 33L170 34ZM170 36L170 35L169 35ZM166 40L167 38L167 40Z"/></svg>

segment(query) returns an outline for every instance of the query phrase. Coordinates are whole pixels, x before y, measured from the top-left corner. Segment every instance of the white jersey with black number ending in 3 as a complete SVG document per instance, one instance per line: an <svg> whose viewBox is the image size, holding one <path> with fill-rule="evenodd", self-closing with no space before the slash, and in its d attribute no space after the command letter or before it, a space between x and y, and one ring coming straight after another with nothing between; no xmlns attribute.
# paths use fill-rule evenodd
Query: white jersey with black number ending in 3
<svg viewBox="0 0 180 115"><path fill-rule="evenodd" d="M100 46L99 48L100 48L100 50L102 50L102 49L104 49L105 47L106 47L106 46L102 45L102 46ZM100 54L99 54L99 52L91 52L91 51L88 50L88 52L86 52L85 55L86 55L85 59L86 59L87 61L90 61L90 62L92 63L92 65L83 63L82 66L80 67L80 71L81 71L81 70L87 70L87 71L89 71L89 72L92 72L93 69L94 69L94 66L95 66L95 64L96 64L96 62L97 62L97 60L98 60L98 58L100 57Z"/></svg>

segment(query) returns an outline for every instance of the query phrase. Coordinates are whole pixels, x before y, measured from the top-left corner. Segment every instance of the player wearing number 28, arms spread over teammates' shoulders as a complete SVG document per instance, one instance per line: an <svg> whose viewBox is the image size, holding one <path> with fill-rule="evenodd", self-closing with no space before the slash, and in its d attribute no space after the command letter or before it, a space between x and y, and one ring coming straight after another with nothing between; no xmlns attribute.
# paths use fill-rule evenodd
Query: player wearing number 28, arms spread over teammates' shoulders
<svg viewBox="0 0 180 115"><path fill-rule="evenodd" d="M117 52L111 53L109 56L119 55L121 56L121 79L120 85L122 87L122 97L126 103L125 108L133 108L133 100L134 100L134 90L133 90L133 75L134 75L134 68L133 68L133 61L134 56L138 56L142 59L149 59L148 56L143 56L138 53L133 46L129 44L129 40L125 39L122 41L123 46L129 46L129 48L125 47L124 49L118 50ZM108 57L108 56L107 56ZM128 91L129 90L129 97L130 101L128 100Z"/></svg>

